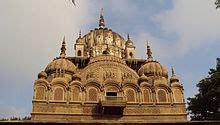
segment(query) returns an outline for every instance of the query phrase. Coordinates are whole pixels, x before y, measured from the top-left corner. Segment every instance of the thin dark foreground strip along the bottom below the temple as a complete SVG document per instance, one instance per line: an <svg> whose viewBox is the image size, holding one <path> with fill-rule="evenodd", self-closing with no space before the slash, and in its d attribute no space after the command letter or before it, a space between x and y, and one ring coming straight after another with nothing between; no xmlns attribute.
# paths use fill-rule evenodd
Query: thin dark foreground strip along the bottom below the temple
<svg viewBox="0 0 220 125"><path fill-rule="evenodd" d="M152 123L144 123L144 122L140 122L140 123L125 123L125 122L114 122L114 123L69 123L69 122L32 122L32 121L27 121L27 122L20 122L20 121L7 121L7 122L0 122L0 124L5 124L5 125L9 125L9 124L35 124L35 125L43 125L43 124L47 124L47 125L56 125L56 124L66 124L66 125L220 125L220 121L188 121L188 122L152 122Z"/></svg>

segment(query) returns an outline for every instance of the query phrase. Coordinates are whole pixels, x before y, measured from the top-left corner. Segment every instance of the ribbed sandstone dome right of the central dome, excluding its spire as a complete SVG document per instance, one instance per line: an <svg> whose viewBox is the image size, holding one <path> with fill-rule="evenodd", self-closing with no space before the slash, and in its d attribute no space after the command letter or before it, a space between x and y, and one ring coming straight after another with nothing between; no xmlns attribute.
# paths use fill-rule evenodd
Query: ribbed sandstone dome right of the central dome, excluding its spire
<svg viewBox="0 0 220 125"><path fill-rule="evenodd" d="M144 74L145 76L163 76L165 78L168 78L168 71L167 69L162 66L159 62L154 61L152 59L148 59L147 62L141 66L141 68L138 70L139 76Z"/></svg>

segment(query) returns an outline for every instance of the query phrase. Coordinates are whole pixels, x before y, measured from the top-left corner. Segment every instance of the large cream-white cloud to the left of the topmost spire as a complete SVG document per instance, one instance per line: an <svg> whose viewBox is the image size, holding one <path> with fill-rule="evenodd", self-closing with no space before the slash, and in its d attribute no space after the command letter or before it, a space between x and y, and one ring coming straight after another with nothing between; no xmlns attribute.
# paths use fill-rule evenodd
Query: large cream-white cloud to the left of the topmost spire
<svg viewBox="0 0 220 125"><path fill-rule="evenodd" d="M73 56L73 43L91 22L93 7L86 0L77 1L77 6L68 0L0 1L0 69L20 77L43 70L59 56L64 35L67 53Z"/></svg>

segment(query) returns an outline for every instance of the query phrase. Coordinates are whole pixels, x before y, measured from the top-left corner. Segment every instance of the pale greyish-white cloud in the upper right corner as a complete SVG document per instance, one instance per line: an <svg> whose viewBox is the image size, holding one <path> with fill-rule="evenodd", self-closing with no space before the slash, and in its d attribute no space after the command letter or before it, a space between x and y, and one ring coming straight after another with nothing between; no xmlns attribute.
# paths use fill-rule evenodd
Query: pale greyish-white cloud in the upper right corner
<svg viewBox="0 0 220 125"><path fill-rule="evenodd" d="M214 0L173 0L173 8L158 14L154 20L164 32L177 35L169 48L175 49L178 57L220 39L219 15Z"/></svg>

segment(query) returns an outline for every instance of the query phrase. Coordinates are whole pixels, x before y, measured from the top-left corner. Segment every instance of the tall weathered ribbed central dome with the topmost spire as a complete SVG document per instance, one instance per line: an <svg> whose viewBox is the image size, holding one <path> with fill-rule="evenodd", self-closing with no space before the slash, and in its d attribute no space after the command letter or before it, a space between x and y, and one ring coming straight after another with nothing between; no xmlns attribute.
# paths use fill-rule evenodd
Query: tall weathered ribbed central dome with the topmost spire
<svg viewBox="0 0 220 125"><path fill-rule="evenodd" d="M96 57L105 54L125 58L126 40L118 33L105 27L104 17L101 13L99 27L76 40L75 50L77 56Z"/></svg>

